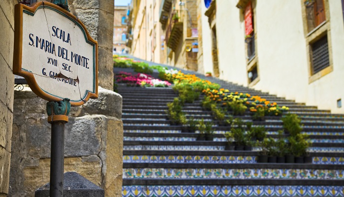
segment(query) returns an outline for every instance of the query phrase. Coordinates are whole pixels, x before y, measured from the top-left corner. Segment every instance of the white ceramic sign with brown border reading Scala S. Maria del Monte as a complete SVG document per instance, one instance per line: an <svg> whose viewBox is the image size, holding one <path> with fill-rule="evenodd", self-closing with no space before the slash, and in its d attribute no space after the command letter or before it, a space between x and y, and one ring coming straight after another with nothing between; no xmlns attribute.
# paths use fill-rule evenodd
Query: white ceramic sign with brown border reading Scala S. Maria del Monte
<svg viewBox="0 0 344 197"><path fill-rule="evenodd" d="M98 44L74 15L46 1L15 5L13 74L47 101L98 96Z"/></svg>

